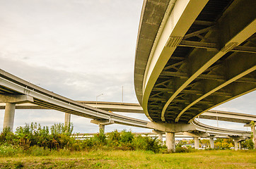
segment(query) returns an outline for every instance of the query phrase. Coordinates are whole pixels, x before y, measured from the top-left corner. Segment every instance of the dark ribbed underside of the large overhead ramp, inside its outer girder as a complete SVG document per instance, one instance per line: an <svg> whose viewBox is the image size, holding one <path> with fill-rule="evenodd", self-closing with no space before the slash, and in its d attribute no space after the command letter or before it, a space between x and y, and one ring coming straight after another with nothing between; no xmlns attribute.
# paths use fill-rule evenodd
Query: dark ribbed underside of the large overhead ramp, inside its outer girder
<svg viewBox="0 0 256 169"><path fill-rule="evenodd" d="M197 18L151 91L148 111L154 121L190 123L210 107L256 88L256 13L251 3L236 1L221 18L195 30ZM248 87L242 92L239 85Z"/></svg>

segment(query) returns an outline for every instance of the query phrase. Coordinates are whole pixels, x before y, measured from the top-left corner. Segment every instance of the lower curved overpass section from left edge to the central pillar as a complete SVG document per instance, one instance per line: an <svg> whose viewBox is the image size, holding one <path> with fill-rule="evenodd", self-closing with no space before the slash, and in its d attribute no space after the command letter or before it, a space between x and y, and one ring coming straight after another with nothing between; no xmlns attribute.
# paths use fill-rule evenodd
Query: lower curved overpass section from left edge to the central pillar
<svg viewBox="0 0 256 169"><path fill-rule="evenodd" d="M73 101L54 92L50 92L35 84L31 84L19 77L11 75L0 69L0 102L6 103L6 110L11 112L11 116L4 117L4 123L8 127L13 127L13 118L16 104L33 103L37 106L50 108L64 113L71 113L85 118L91 118L95 123L117 123L121 125L131 125L135 127L146 127L146 120L129 118L103 111ZM5 126L4 126L5 127Z"/></svg>

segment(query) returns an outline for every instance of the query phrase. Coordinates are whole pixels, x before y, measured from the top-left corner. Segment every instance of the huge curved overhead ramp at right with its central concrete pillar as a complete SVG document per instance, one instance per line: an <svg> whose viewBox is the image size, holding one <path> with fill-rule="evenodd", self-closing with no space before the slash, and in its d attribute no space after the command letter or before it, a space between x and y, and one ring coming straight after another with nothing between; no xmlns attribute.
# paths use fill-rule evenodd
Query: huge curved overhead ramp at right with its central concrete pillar
<svg viewBox="0 0 256 169"><path fill-rule="evenodd" d="M255 91L255 3L144 1L134 86L152 123L185 126L211 108ZM175 151L173 129L165 130L170 151Z"/></svg>

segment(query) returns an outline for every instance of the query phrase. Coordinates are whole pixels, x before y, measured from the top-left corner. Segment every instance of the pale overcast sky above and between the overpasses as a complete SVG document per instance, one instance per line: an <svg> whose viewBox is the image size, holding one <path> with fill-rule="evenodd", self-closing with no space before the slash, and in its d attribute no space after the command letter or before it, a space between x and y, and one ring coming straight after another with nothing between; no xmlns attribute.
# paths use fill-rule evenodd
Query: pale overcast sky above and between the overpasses
<svg viewBox="0 0 256 169"><path fill-rule="evenodd" d="M138 103L134 58L142 0L0 0L0 68L74 100ZM214 109L255 114L256 92ZM147 120L145 115L129 114ZM4 110L0 110L0 130ZM201 121L201 120L200 120ZM215 121L202 120L216 125ZM16 110L14 128L25 123L64 123L64 113ZM74 132L98 132L87 118L71 115ZM245 130L242 124L220 127ZM109 125L112 130L150 130Z"/></svg>

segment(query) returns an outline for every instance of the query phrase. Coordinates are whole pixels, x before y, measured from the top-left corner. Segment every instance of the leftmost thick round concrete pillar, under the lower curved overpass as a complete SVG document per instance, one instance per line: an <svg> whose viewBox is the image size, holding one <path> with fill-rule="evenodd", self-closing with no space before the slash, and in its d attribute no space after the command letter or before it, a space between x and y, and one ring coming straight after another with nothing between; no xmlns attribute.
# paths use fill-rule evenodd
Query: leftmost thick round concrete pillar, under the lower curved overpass
<svg viewBox="0 0 256 169"><path fill-rule="evenodd" d="M6 110L4 112L3 129L6 128L6 127L10 127L11 131L13 131L15 106L16 106L16 104L6 103Z"/></svg>

